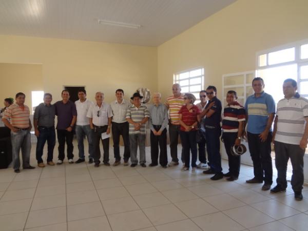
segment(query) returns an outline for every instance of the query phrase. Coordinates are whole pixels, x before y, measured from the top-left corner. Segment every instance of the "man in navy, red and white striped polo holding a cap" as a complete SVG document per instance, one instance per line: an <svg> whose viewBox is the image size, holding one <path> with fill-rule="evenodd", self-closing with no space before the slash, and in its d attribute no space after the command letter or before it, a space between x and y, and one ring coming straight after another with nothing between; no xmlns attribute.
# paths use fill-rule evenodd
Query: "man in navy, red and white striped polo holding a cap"
<svg viewBox="0 0 308 231"><path fill-rule="evenodd" d="M244 128L244 121L246 117L245 109L237 101L236 91L227 92L227 105L223 110L222 120L222 140L228 155L229 172L224 174L228 177L227 181L234 181L239 178L241 157L235 157L231 154L231 147L233 145L239 146L241 144L241 137Z"/></svg>

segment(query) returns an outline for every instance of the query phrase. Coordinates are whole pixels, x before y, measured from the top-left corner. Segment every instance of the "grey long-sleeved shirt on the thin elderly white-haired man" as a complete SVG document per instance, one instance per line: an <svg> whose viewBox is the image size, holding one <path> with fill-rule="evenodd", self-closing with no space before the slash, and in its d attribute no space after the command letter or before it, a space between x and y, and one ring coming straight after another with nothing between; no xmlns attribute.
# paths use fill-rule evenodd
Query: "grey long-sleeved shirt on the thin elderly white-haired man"
<svg viewBox="0 0 308 231"><path fill-rule="evenodd" d="M168 124L168 109L165 105L160 103L158 106L154 104L150 109L150 129L156 131L153 125L161 125L160 131L163 131Z"/></svg>

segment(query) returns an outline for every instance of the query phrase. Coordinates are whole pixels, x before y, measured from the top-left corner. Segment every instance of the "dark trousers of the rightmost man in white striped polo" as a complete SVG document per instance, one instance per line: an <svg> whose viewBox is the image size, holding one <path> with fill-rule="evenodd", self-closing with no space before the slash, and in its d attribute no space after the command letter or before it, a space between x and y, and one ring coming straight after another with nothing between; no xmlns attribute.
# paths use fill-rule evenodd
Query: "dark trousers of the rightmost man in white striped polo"
<svg viewBox="0 0 308 231"><path fill-rule="evenodd" d="M286 188L286 169L288 159L292 163L292 178L291 185L295 192L301 192L304 183L304 154L305 150L301 149L299 145L286 144L275 141L275 165L277 168L277 184Z"/></svg>

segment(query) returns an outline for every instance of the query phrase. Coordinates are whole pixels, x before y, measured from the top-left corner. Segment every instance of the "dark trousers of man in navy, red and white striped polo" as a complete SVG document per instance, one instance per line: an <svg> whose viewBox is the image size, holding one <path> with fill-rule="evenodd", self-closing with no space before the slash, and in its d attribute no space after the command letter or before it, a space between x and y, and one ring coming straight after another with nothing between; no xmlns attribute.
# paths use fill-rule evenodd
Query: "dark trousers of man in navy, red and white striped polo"
<svg viewBox="0 0 308 231"><path fill-rule="evenodd" d="M238 133L237 132L223 132L222 139L228 155L229 172L233 177L239 177L241 167L241 157L235 157L231 154L231 147L234 145Z"/></svg>

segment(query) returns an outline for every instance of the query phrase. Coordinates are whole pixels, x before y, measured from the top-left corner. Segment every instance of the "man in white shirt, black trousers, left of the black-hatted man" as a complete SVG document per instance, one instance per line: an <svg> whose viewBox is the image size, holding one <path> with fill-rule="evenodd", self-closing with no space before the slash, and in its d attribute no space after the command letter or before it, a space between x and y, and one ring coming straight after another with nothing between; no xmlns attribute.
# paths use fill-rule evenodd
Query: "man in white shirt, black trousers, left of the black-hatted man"
<svg viewBox="0 0 308 231"><path fill-rule="evenodd" d="M113 152L115 162L113 166L121 164L120 156L120 135L122 135L124 141L124 166L128 166L128 159L130 157L129 150L129 136L128 136L128 122L126 121L126 112L130 103L123 99L124 91L118 89L115 91L115 97L117 100L113 101L110 106L112 110L112 139L113 139Z"/></svg>

